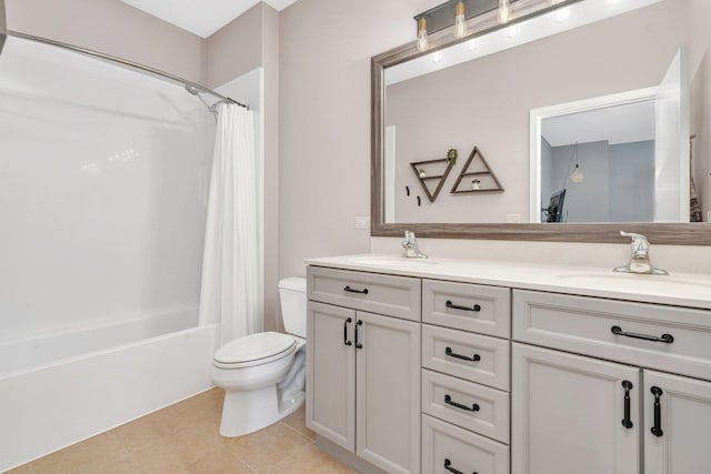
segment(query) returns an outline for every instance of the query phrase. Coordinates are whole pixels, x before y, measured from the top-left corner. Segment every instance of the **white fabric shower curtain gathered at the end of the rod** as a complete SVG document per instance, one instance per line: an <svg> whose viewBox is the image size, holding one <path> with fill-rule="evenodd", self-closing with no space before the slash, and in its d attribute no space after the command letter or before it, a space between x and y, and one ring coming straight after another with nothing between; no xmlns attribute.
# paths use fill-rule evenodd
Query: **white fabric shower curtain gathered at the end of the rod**
<svg viewBox="0 0 711 474"><path fill-rule="evenodd" d="M221 344L262 331L257 243L254 117L220 104L202 260L200 324L220 323Z"/></svg>

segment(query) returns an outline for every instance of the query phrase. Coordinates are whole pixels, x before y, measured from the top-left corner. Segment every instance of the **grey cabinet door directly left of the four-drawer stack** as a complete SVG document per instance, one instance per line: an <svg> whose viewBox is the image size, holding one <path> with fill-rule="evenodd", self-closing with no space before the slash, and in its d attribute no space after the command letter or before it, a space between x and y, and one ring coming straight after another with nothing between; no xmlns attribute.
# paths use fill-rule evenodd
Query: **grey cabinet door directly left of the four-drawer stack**
<svg viewBox="0 0 711 474"><path fill-rule="evenodd" d="M357 317L356 452L389 473L419 473L420 324L361 312Z"/></svg>

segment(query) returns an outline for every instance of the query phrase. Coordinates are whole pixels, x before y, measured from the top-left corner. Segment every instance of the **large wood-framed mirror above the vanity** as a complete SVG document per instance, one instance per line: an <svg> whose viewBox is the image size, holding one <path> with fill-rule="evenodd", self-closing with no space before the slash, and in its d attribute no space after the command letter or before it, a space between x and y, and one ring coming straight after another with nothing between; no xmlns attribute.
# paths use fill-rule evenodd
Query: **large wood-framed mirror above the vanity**
<svg viewBox="0 0 711 474"><path fill-rule="evenodd" d="M711 138L704 133L711 130L711 6L565 3L457 42L443 30L425 53L407 44L373 58L373 235L413 229L429 236L619 242L618 229L634 229L657 243L711 243L709 224L684 224L694 220L693 209L704 221L711 211ZM639 115L650 110L651 119ZM602 137L610 114L639 115L641 130L630 130L624 142L620 130ZM594 143L605 141L595 151ZM488 169L464 169L474 147ZM434 160L449 164L442 159L451 149L458 158L448 177L443 169L419 169L423 180L413 169ZM568 172L575 159L587 177L581 183ZM472 175L487 171L498 178L498 190L488 175ZM640 177L649 183L642 186ZM482 188L489 192L473 192ZM565 199L557 196L562 219L545 223L551 199L563 189ZM583 202L599 209L582 212Z"/></svg>

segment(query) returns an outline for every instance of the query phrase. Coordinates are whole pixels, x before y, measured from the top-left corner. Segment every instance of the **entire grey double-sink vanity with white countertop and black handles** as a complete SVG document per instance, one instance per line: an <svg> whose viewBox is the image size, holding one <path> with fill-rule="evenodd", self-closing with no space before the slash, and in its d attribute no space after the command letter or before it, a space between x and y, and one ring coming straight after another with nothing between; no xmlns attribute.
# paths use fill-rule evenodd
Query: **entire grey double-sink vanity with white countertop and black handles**
<svg viewBox="0 0 711 474"><path fill-rule="evenodd" d="M708 472L711 278L307 263L307 426L360 472Z"/></svg>

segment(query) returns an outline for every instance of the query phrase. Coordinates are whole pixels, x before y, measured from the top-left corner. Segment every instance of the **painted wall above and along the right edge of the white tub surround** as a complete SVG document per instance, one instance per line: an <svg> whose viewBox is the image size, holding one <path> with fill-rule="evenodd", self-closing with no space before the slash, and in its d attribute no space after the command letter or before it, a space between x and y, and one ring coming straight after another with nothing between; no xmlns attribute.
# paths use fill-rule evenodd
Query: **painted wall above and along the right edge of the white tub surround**
<svg viewBox="0 0 711 474"><path fill-rule="evenodd" d="M208 39L202 39L118 0L4 0L8 28L118 58L217 89L264 69L264 327L280 329L279 234L279 21L258 3ZM131 34L126 32L130 31ZM244 49L234 44L246 46ZM256 53L259 51L259 53Z"/></svg>

